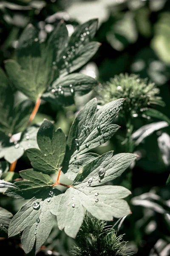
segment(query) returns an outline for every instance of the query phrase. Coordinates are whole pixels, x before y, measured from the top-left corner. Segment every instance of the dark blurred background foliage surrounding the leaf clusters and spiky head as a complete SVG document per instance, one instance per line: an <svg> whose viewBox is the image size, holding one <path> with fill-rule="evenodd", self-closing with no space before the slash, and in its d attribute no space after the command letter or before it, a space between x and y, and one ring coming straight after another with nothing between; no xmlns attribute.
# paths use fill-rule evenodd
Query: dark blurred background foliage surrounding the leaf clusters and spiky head
<svg viewBox="0 0 170 256"><path fill-rule="evenodd" d="M148 78L159 88L159 96L165 102L165 107L156 105L154 108L170 118L170 0L1 0L1 67L4 60L14 58L17 40L28 23L39 29L43 41L61 19L71 35L77 24L91 18L99 18L95 39L102 46L79 72L96 78L101 83L100 88L120 73ZM100 94L98 88L77 97L76 105L66 108L42 102L34 122L44 118L54 120L56 127L60 126L68 134L77 111L96 94ZM118 117L116 123L122 128L109 142L99 146L96 153L128 151L125 119ZM133 212L120 220L118 234L125 233L124 239L129 241L127 246L130 247L128 252L137 256L168 256L170 187L165 184L170 173L170 128L167 122L147 115L133 116L130 124L133 129L129 141L132 151L139 154L139 160L118 181L132 191L128 203ZM29 167L24 154L17 162L16 172ZM23 202L11 202L1 195L0 204L14 214ZM55 226L38 255L68 256L73 243ZM6 254L15 249L17 255L24 255L17 239L0 240L0 247Z"/></svg>

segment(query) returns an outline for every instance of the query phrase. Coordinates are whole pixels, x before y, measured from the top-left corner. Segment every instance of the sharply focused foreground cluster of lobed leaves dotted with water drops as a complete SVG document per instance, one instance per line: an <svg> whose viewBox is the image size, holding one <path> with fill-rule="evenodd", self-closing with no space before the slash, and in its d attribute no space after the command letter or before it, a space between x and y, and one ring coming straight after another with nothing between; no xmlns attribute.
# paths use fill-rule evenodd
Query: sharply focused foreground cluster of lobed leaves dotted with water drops
<svg viewBox="0 0 170 256"><path fill-rule="evenodd" d="M97 111L96 99L88 102L79 112L71 127L68 139L59 128L45 120L37 133L40 149L30 148L26 153L34 169L20 172L23 180L14 183L20 190L8 188L5 195L30 199L12 219L8 235L23 231L21 242L26 253L35 253L48 238L52 229L52 214L57 215L60 230L75 237L82 225L84 208L96 218L111 221L113 216L130 213L123 198L130 191L122 186L101 186L115 180L136 159L135 154L113 151L101 156L88 153L105 143L119 129L111 124L124 99L104 105ZM62 172L70 180L59 182ZM54 183L49 175L57 175ZM64 192L57 185L66 186ZM43 232L42 232L43 230Z"/></svg>

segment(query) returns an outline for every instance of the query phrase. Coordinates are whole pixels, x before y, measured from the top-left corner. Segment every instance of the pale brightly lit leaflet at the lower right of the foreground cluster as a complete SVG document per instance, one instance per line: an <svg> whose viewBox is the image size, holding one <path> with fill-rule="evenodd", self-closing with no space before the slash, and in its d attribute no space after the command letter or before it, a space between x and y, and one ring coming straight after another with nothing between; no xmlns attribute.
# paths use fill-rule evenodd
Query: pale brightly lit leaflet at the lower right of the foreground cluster
<svg viewBox="0 0 170 256"><path fill-rule="evenodd" d="M84 218L84 209L96 218L112 221L113 216L122 217L130 213L126 201L122 200L130 194L121 186L75 186L69 188L61 197L57 211L59 229L65 230L68 236L75 238ZM65 214L63 215L63 212Z"/></svg>

